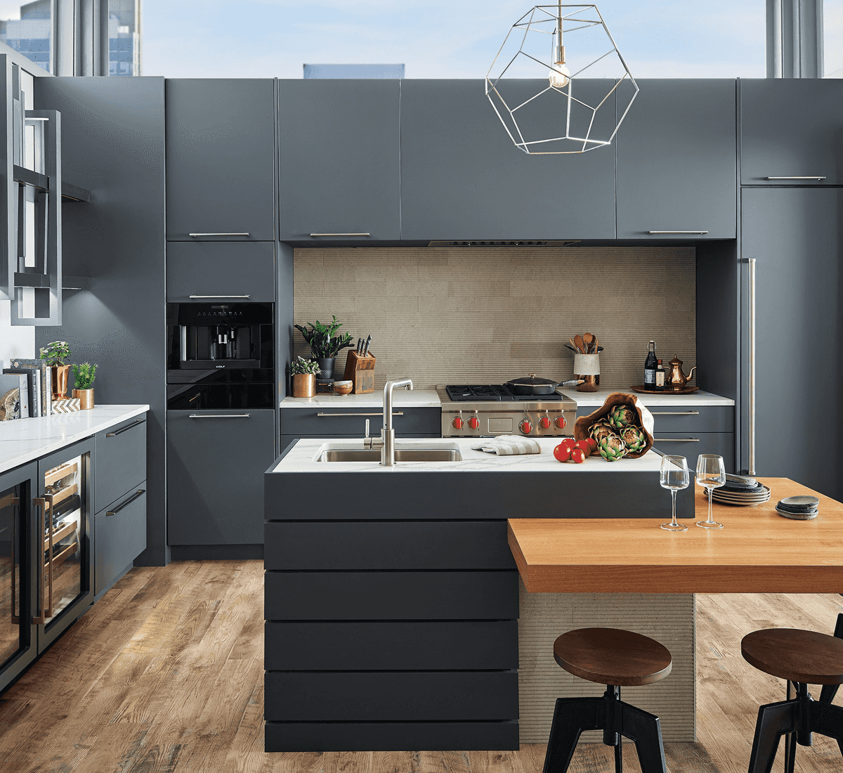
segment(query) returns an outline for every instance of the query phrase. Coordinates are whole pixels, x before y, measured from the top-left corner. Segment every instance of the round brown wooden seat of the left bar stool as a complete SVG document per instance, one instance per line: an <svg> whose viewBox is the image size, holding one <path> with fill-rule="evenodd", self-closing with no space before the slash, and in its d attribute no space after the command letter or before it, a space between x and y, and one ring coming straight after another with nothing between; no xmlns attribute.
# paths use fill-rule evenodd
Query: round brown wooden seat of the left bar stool
<svg viewBox="0 0 843 773"><path fill-rule="evenodd" d="M840 644L843 646L843 641ZM670 673L672 663L663 644L618 628L578 628L563 633L553 643L553 657L569 674L619 687L658 682Z"/></svg>

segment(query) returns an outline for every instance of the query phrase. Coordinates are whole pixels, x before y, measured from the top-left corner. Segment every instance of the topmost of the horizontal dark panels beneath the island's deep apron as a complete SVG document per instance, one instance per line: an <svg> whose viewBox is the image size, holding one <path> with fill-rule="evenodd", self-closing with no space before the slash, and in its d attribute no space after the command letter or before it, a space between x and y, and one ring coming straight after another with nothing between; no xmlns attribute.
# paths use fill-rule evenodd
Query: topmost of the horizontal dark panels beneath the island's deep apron
<svg viewBox="0 0 843 773"><path fill-rule="evenodd" d="M264 524L266 569L514 569L506 521Z"/></svg>

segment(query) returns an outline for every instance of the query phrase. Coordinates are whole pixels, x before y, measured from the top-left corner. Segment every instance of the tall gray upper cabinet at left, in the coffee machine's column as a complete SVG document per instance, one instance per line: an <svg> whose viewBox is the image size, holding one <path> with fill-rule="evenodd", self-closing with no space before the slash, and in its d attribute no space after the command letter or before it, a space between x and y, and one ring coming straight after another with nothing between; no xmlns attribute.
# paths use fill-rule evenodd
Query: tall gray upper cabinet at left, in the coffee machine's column
<svg viewBox="0 0 843 773"><path fill-rule="evenodd" d="M167 239L275 239L275 82L170 78L164 93Z"/></svg>

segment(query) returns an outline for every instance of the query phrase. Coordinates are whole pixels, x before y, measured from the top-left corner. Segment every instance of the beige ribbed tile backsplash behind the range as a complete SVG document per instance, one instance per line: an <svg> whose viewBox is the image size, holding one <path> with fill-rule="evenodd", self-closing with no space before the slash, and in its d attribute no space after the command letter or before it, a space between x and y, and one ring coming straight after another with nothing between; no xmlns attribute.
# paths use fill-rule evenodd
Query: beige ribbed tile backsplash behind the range
<svg viewBox="0 0 843 773"><path fill-rule="evenodd" d="M500 384L570 378L563 344L599 337L601 387L643 380L647 342L695 364L693 247L378 247L295 250L294 319L331 314L372 336L375 389L389 378ZM309 348L294 331L294 354ZM346 352L337 358L339 378Z"/></svg>

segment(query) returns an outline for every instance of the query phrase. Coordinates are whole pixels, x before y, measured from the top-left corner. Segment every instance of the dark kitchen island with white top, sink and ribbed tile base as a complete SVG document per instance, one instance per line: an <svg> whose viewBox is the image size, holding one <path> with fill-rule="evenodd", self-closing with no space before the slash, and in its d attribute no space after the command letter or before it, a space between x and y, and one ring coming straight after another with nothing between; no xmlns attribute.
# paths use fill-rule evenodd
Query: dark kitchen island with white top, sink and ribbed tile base
<svg viewBox="0 0 843 773"><path fill-rule="evenodd" d="M474 438L400 439L400 448L450 448L460 459L392 468L319 461L364 450L362 439L284 450L265 475L268 751L540 743L547 696L571 685L536 643L580 613L595 625L633 618L665 640L674 675L650 710L681 703L663 722L665 738L693 739L692 597L575 595L561 610L557 594L519 593L507 545L507 518L602 513L658 529L669 513L658 454L560 464L556 441L539 442L540 454L498 457L473 450ZM692 515L688 490L679 516Z"/></svg>

